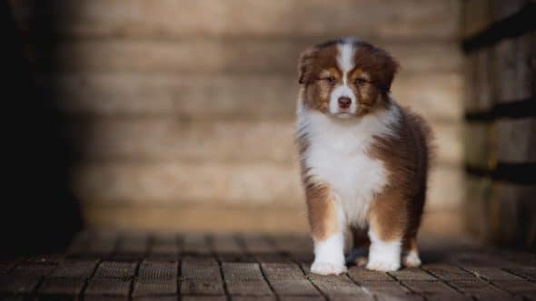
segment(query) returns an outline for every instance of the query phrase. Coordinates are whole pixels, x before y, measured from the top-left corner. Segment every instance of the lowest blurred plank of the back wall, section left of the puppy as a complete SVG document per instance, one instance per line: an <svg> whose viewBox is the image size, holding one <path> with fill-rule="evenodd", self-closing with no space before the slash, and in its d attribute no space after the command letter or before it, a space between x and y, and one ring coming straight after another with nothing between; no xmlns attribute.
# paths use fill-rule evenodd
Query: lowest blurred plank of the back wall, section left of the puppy
<svg viewBox="0 0 536 301"><path fill-rule="evenodd" d="M283 232L308 231L305 208L181 204L179 206L84 205L88 226L152 230ZM208 249L208 248L205 248Z"/></svg>

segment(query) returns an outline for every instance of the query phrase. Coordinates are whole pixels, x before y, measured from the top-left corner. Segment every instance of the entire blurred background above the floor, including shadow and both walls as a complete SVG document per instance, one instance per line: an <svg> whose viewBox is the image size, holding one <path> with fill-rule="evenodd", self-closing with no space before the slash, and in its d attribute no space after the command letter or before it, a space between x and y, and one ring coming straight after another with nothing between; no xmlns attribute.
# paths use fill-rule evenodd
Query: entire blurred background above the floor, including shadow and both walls
<svg viewBox="0 0 536 301"><path fill-rule="evenodd" d="M53 248L84 227L308 231L296 61L347 35L398 59L393 98L435 131L422 232L534 246L531 1L2 6L15 120L2 235L14 248Z"/></svg>

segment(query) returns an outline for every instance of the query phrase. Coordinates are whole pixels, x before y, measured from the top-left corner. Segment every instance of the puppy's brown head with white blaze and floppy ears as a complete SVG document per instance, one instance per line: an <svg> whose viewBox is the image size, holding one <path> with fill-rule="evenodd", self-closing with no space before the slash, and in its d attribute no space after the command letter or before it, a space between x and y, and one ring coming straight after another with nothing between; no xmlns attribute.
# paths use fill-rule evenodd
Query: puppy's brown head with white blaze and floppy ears
<svg viewBox="0 0 536 301"><path fill-rule="evenodd" d="M397 68L389 53L365 42L313 46L298 64L304 105L343 119L373 112L386 105Z"/></svg>

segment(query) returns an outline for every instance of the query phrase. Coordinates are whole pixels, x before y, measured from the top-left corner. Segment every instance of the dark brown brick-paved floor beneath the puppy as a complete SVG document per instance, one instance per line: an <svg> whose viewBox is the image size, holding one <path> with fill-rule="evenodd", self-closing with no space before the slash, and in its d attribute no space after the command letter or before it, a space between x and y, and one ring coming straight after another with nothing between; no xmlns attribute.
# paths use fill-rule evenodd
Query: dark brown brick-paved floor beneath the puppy
<svg viewBox="0 0 536 301"><path fill-rule="evenodd" d="M65 254L0 262L0 299L536 300L536 257L422 239L422 268L311 275L306 237L85 231Z"/></svg>

